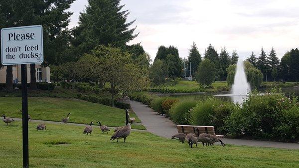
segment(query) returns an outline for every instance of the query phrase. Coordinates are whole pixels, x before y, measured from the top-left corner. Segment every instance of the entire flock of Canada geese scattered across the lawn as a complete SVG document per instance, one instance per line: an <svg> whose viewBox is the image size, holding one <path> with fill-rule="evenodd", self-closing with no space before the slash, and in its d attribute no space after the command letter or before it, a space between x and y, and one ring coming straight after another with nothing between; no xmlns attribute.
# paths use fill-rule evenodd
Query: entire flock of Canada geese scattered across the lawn
<svg viewBox="0 0 299 168"><path fill-rule="evenodd" d="M60 123L63 122L65 124L67 124L67 122L70 119L70 117L69 117L70 114L71 113L67 113L67 117L61 119ZM11 123L11 125L12 125L12 122L14 122L13 119L6 118L5 114L3 114L2 117L3 117L3 122L6 123L6 125L8 125L8 123ZM31 119L32 119L31 116L28 115L28 121ZM110 131L110 129L107 126L102 125L101 122L99 122L99 121L97 123L99 123L100 130L102 131L102 133L104 134L104 132L106 132L108 134L108 131ZM91 135L91 133L93 131L92 124L93 124L93 121L91 121L90 124L84 128L83 134ZM38 124L36 129L37 129L37 131L38 130L44 131L44 130L46 130L46 124L44 124L44 123ZM124 142L126 142L126 138L130 135L131 130L132 130L131 125L129 122L129 110L126 110L126 125L116 128L114 130L113 135L110 138L110 141L114 141L115 139L117 139L117 142L118 142L119 139L123 138ZM202 146L204 146L204 144L206 146L207 145L212 146L216 142L220 142L223 147L225 146L225 144L214 135L205 134L205 133L199 134L198 128L195 129L195 132L196 132L196 134L187 134L187 135L184 133L178 133L178 134L173 135L171 137L171 139L178 139L182 144L184 144L184 141L186 141L189 144L190 148L192 148L193 144L195 144L196 148L197 148L198 142L201 142Z"/></svg>

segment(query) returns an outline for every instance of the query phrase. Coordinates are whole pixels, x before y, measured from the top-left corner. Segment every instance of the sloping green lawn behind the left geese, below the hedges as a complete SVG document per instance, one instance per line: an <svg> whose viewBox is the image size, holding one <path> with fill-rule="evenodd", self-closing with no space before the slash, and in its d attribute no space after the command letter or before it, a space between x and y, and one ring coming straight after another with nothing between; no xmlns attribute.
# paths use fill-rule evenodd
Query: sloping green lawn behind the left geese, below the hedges
<svg viewBox="0 0 299 168"><path fill-rule="evenodd" d="M0 114L7 117L21 118L21 97L0 97ZM44 98L28 97L28 114L32 119L60 121L67 113L71 113L69 122L87 124L91 121L94 124L101 121L101 124L118 127L125 123L125 110L105 106L102 104L86 102L78 99L64 98ZM130 117L135 117L140 122L134 112L130 112ZM132 125L135 129L145 129L143 125Z"/></svg>

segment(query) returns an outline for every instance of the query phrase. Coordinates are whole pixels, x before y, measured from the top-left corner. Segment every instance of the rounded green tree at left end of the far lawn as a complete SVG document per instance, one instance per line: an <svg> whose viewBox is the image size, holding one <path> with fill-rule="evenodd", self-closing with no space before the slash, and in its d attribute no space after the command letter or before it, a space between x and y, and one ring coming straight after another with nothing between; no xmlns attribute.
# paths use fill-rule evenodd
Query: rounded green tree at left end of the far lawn
<svg viewBox="0 0 299 168"><path fill-rule="evenodd" d="M164 84L165 81L165 70L163 66L163 61L156 59L150 67L149 79L153 86L159 87Z"/></svg>

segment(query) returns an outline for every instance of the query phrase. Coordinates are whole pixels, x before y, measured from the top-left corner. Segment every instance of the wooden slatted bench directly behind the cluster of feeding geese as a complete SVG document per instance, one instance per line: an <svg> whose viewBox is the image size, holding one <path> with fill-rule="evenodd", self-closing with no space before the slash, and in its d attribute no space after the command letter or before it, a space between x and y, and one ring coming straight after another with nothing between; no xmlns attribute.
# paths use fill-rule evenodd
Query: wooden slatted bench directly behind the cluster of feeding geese
<svg viewBox="0 0 299 168"><path fill-rule="evenodd" d="M197 134L195 131L196 128L199 130L199 134L206 133L206 134L211 134L215 135L218 138L224 138L223 135L216 135L214 126L188 126L188 125L176 125L177 132L178 133L184 133L184 134Z"/></svg>

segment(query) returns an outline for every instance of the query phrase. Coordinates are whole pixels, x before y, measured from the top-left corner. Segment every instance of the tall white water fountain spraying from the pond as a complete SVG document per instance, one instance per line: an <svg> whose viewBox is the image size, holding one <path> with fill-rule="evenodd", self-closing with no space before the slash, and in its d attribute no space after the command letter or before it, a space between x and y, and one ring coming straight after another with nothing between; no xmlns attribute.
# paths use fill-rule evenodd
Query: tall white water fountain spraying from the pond
<svg viewBox="0 0 299 168"><path fill-rule="evenodd" d="M243 100L246 98L250 91L250 84L247 82L243 60L239 59L231 94L219 94L215 96L231 97L235 103L242 104Z"/></svg>

